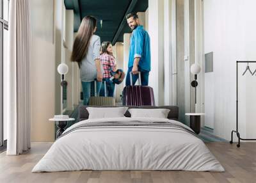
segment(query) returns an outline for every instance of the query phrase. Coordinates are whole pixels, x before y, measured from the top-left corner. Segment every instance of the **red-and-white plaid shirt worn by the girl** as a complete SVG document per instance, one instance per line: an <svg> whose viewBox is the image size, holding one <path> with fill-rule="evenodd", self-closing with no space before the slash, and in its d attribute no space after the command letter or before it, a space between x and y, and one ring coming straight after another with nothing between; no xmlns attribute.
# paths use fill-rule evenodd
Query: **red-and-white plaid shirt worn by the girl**
<svg viewBox="0 0 256 183"><path fill-rule="evenodd" d="M100 55L100 62L102 64L102 68L104 70L103 78L112 77L110 75L110 70L115 70L115 68L116 68L115 57L111 54L104 52L103 54Z"/></svg>

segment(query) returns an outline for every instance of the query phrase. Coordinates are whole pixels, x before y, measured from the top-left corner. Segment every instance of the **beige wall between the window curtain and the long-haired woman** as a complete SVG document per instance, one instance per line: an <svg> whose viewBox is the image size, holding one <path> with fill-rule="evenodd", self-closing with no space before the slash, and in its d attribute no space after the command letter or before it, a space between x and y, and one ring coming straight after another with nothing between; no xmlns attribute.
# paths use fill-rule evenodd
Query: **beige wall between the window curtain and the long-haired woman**
<svg viewBox="0 0 256 183"><path fill-rule="evenodd" d="M72 110L79 102L79 70L70 62L74 13L65 10L63 0L33 0L31 30L31 141L54 141L54 123L48 120L63 111L61 76L57 72L61 62L68 65L67 109Z"/></svg>

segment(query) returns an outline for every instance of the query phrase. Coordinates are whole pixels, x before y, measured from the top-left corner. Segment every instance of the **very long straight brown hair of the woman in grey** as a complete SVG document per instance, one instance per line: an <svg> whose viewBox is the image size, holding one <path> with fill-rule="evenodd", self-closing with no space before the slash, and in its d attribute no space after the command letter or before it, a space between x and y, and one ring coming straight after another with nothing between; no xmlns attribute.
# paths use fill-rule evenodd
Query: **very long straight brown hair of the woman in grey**
<svg viewBox="0 0 256 183"><path fill-rule="evenodd" d="M77 61L79 66L81 60L83 60L84 56L86 56L88 52L90 39L93 35L96 24L97 20L94 17L86 16L83 18L81 25L77 31L71 54L71 61Z"/></svg>

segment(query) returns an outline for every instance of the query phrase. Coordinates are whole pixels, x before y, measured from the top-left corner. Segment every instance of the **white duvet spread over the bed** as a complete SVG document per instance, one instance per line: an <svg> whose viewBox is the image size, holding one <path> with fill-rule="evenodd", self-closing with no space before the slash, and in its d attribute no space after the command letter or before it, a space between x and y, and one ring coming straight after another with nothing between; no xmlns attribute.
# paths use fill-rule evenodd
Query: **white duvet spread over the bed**
<svg viewBox="0 0 256 183"><path fill-rule="evenodd" d="M72 170L225 171L204 142L189 132L168 127L92 127L93 122L172 122L163 118L84 120L57 139L32 172ZM183 125L186 127L186 125ZM189 129L189 127L186 127Z"/></svg>

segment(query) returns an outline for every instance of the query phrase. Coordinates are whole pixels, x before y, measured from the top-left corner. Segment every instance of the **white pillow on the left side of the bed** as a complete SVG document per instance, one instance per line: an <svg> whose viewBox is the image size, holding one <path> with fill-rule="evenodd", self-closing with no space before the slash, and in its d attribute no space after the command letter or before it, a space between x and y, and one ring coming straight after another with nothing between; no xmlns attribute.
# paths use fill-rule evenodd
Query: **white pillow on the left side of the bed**
<svg viewBox="0 0 256 183"><path fill-rule="evenodd" d="M125 117L124 114L128 107L86 107L89 118L120 118Z"/></svg>

